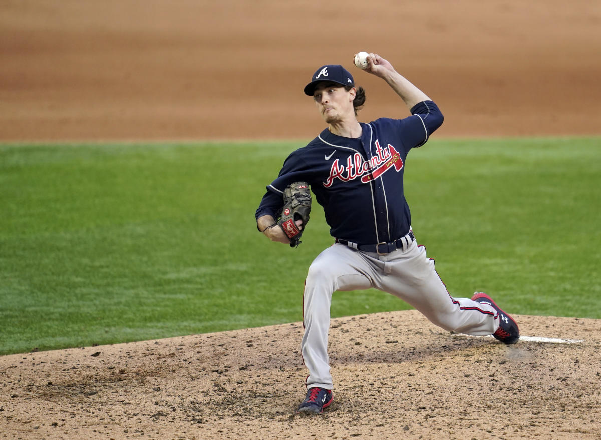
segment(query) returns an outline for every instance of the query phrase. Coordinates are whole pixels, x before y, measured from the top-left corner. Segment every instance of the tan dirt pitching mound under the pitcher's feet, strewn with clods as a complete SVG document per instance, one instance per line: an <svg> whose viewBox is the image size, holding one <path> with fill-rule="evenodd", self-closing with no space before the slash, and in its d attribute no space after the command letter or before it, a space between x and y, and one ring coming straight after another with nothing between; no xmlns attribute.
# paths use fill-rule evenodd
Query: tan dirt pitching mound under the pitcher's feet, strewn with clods
<svg viewBox="0 0 601 440"><path fill-rule="evenodd" d="M416 311L334 319L334 403L300 416L301 323L0 358L2 438L599 438L601 321L557 344L452 335Z"/></svg>

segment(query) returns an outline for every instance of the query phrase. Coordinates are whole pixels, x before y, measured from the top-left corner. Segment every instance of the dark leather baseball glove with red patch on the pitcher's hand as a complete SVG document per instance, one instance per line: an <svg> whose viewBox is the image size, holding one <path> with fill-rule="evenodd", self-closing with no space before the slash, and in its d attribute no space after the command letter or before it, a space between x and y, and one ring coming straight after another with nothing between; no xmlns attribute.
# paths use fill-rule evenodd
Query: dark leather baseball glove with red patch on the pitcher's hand
<svg viewBox="0 0 601 440"><path fill-rule="evenodd" d="M302 231L309 222L311 212L311 191L307 182L295 182L284 189L284 207L278 225L290 240L290 247L296 248L301 244ZM302 230L296 225L296 220L302 220Z"/></svg>

